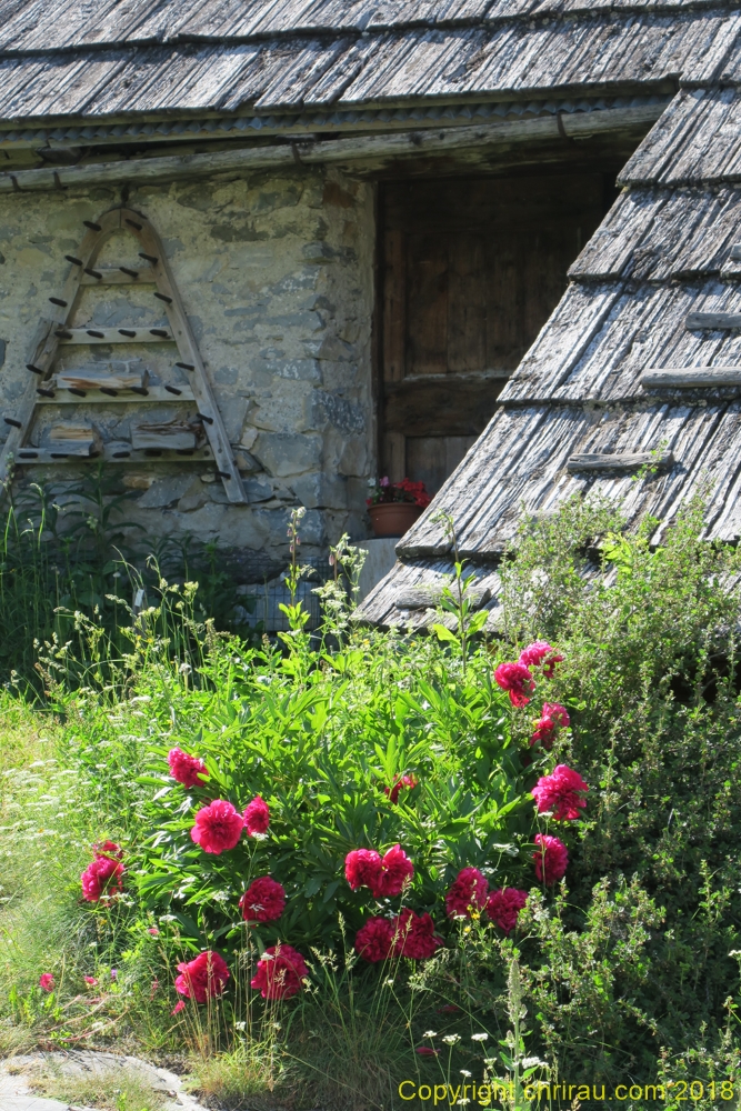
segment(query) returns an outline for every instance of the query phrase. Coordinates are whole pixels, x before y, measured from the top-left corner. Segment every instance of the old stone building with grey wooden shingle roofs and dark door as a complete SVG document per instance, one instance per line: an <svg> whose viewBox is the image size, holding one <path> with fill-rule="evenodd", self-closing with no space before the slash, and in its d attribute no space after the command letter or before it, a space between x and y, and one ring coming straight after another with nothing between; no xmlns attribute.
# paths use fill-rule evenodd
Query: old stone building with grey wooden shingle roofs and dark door
<svg viewBox="0 0 741 1111"><path fill-rule="evenodd" d="M246 582L292 507L317 560L367 537L383 473L440 490L483 575L523 499L625 497L572 457L710 442L734 404L688 431L639 363L734 296L740 29L719 0L2 0L3 467L104 459L148 536L218 538ZM444 567L430 518L374 620Z"/></svg>

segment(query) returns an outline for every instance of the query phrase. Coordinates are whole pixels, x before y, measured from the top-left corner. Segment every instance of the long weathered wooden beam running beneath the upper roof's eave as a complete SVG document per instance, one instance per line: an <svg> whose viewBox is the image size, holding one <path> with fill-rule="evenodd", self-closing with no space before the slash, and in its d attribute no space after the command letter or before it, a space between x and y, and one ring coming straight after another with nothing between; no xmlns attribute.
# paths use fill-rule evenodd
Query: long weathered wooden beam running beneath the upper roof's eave
<svg viewBox="0 0 741 1111"><path fill-rule="evenodd" d="M377 172L398 159L451 154L478 147L509 147L518 142L589 139L603 132L631 127L650 127L664 104L608 108L592 112L548 113L532 119L517 118L497 123L405 131L402 134L354 136L349 139L299 141L274 147L240 147L204 154L163 156L129 159L126 162L93 162L88 166L43 167L0 173L0 192L76 189L79 186L122 182L174 181L178 178L210 177L213 173L251 173L262 169L296 170L304 166L334 163L353 170ZM563 131L561 131L561 128Z"/></svg>

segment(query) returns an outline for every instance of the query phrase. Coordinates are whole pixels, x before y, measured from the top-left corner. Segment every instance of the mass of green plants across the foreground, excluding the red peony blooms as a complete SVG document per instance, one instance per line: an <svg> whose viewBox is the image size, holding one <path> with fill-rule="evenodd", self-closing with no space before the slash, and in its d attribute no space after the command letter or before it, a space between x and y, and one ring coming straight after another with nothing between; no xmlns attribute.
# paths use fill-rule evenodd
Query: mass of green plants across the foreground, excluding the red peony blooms
<svg viewBox="0 0 741 1111"><path fill-rule="evenodd" d="M741 556L698 539L699 506L659 528L628 532L610 507L584 501L525 521L501 568L504 624L490 644L460 558L442 635L359 628L347 539L319 588L319 635L296 598L277 644L218 634L193 584L154 572L152 604L111 603L116 643L78 615L78 640L42 651L46 709L6 695L4 1015L62 1044L113 1031L153 1051L186 1043L204 1089L234 1107L240 1085L249 1105L271 1092L401 1105L400 1079L455 1085L461 1070L505 1080L514 1102L534 1075L698 1080L695 1105L718 1105L708 1085L738 1085L741 1060ZM297 557L289 585L298 574ZM550 678L537 670L530 705L512 709L493 667L542 638L564 660ZM572 721L550 752L529 743L542 701ZM169 778L174 745L207 761L203 787ZM583 818L565 828L535 820L529 797L557 763L590 785ZM417 785L392 804L384 788L404 774ZM264 840L243 837L219 857L193 844L201 805L242 809L258 793L271 809ZM535 830L568 845L555 890L534 884ZM80 905L79 873L104 837L126 850L124 898ZM352 892L347 852L397 842L415 868L403 900ZM447 919L443 894L468 864L492 885L529 889L510 938L485 917ZM287 909L248 930L239 898L263 874L283 883ZM428 962L367 965L354 931L402 901L430 911L445 947ZM306 955L310 987L268 1005L249 981L279 937ZM172 1015L174 967L206 945L228 957L229 992ZM38 988L41 971L56 975L53 995ZM108 977L94 1015L84 975Z"/></svg>

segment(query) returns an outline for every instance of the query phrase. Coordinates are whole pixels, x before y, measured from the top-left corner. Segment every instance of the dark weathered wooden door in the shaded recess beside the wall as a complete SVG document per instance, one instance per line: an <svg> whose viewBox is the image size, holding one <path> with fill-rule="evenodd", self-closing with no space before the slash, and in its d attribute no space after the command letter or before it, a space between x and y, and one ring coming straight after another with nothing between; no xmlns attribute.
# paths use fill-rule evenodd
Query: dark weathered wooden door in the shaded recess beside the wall
<svg viewBox="0 0 741 1111"><path fill-rule="evenodd" d="M454 470L602 219L601 173L382 187L381 471Z"/></svg>

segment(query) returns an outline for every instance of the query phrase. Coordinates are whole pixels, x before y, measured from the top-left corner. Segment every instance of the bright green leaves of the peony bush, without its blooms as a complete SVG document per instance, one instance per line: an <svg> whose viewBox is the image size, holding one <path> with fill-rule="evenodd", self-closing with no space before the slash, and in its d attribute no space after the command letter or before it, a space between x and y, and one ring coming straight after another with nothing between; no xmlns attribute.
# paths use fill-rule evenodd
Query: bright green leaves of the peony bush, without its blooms
<svg viewBox="0 0 741 1111"><path fill-rule="evenodd" d="M348 852L401 843L414 861L409 900L437 912L458 870L475 864L492 878L503 854L524 837L520 760L508 729L508 701L492 687L480 655L467 680L444 665L434 644L379 638L330 657L304 649L306 683L277 652L231 655L212 673L219 698L197 731L168 731L152 745L140 890L148 905L174 914L197 945L207 937L237 943L237 904L249 882L270 874L289 895L280 923L260 925L263 944L338 941L338 914L354 932L375 908L351 892ZM425 667L420 663L424 660ZM289 667L283 667L288 662ZM178 744L202 757L210 779L186 792L168 779L167 751ZM418 785L391 804L384 793L403 774ZM267 840L204 854L190 829L214 798L238 809L261 794L270 805ZM398 900L392 901L394 912Z"/></svg>

